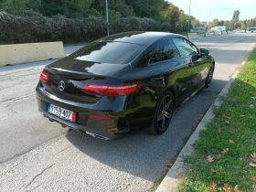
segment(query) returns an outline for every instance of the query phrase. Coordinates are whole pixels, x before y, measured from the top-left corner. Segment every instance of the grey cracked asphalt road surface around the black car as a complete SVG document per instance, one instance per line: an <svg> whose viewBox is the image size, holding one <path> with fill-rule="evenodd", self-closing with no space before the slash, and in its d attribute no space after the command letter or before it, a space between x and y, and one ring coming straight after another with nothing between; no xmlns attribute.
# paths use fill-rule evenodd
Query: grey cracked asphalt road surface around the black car
<svg viewBox="0 0 256 192"><path fill-rule="evenodd" d="M49 123L37 112L35 87L53 60L0 68L0 191L147 191L165 174L193 124L256 42L256 34L194 40L216 59L212 85L180 106L165 134L142 131L116 141ZM72 52L78 47L68 48Z"/></svg>

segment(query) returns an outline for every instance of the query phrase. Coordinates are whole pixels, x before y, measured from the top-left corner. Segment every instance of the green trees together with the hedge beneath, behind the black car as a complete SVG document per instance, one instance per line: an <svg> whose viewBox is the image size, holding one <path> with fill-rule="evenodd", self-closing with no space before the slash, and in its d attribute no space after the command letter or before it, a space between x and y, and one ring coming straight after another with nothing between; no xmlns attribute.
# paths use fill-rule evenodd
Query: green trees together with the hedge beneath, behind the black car
<svg viewBox="0 0 256 192"><path fill-rule="evenodd" d="M187 31L187 14L167 0L108 0L108 12L111 34ZM105 16L106 0L0 0L0 41L91 41L106 35Z"/></svg>

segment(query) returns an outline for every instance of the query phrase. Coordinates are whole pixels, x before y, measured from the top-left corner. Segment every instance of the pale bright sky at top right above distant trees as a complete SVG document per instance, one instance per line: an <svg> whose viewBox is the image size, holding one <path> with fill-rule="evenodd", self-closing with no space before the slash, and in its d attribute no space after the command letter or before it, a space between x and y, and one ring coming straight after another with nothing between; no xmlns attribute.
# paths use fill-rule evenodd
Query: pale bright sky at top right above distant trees
<svg viewBox="0 0 256 192"><path fill-rule="evenodd" d="M168 0L179 8L182 8L186 14L189 13L190 0ZM212 7L212 8L211 8ZM218 18L219 20L230 20L234 10L240 10L240 19L251 19L256 16L256 0L191 0L190 15L200 21L208 21L211 9L210 20Z"/></svg>

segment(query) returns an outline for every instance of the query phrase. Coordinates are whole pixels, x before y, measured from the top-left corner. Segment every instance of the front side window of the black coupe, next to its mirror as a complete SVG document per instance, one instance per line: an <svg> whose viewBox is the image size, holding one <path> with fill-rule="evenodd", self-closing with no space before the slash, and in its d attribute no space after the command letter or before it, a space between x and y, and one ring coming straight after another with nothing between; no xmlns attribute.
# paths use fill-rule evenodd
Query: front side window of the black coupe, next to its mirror
<svg viewBox="0 0 256 192"><path fill-rule="evenodd" d="M173 38L176 48L182 57L197 54L197 48L185 38Z"/></svg>

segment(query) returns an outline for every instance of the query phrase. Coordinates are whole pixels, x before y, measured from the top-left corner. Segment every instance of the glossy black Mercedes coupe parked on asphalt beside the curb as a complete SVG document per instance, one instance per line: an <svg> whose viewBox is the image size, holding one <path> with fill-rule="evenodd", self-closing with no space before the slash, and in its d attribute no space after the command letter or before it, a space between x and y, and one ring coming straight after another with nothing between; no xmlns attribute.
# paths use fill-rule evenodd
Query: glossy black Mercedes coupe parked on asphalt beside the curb
<svg viewBox="0 0 256 192"><path fill-rule="evenodd" d="M114 139L140 127L165 133L176 107L210 86L215 60L187 37L103 37L43 69L38 110L51 122Z"/></svg>

